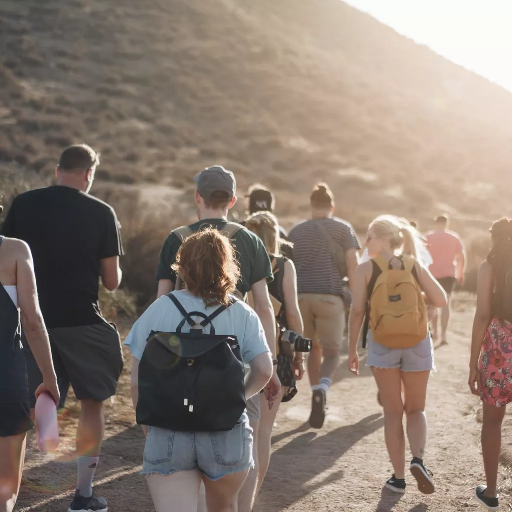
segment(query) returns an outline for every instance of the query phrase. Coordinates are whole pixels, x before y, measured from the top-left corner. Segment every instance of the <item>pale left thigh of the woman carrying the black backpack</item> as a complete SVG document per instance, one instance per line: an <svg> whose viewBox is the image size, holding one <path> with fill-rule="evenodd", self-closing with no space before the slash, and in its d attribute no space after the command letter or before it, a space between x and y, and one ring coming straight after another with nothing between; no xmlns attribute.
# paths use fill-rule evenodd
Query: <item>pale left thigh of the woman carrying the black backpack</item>
<svg viewBox="0 0 512 512"><path fill-rule="evenodd" d="M197 469L179 471L172 475L148 475L146 482L156 512L197 510L201 480L201 472Z"/></svg>

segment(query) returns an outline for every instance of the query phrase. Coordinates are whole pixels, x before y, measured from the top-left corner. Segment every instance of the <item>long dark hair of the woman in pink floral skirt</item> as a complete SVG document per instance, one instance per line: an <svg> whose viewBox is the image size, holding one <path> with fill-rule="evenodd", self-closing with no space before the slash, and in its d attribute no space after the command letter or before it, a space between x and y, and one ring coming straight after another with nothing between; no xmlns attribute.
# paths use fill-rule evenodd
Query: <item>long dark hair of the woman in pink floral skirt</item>
<svg viewBox="0 0 512 512"><path fill-rule="evenodd" d="M506 296L507 274L512 271L512 220L501 219L490 228L493 247L487 261L493 268L495 289L493 294L493 315L500 320L509 320L512 312L512 297ZM511 276L508 276L511 279ZM509 284L512 286L512 283Z"/></svg>

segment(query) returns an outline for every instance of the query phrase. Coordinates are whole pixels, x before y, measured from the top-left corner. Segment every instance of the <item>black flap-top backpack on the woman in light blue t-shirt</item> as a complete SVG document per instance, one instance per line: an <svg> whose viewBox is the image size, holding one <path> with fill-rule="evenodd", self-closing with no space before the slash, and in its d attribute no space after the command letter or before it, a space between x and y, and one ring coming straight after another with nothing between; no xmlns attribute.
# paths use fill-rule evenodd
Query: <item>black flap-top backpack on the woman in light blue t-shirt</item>
<svg viewBox="0 0 512 512"><path fill-rule="evenodd" d="M244 364L237 337L216 335L211 324L226 306L210 316L187 313L174 294L167 296L184 318L176 332L148 338L139 365L137 423L180 432L232 430L246 408ZM182 332L185 323L189 333Z"/></svg>

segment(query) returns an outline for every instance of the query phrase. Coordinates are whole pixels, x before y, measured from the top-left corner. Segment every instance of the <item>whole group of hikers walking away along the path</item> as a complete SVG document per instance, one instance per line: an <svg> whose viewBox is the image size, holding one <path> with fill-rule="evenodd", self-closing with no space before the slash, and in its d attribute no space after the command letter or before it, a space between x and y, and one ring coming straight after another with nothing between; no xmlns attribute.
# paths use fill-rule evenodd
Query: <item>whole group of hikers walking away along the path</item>
<svg viewBox="0 0 512 512"><path fill-rule="evenodd" d="M61 409L70 386L81 412L69 511L108 511L93 481L103 403L115 395L124 361L98 293L100 281L119 287L123 246L113 208L89 194L98 165L91 147L67 148L57 185L16 197L1 227L0 512L14 509L36 399L49 393ZM405 414L410 471L420 492L434 493L423 462L433 342L448 343L450 295L465 266L447 217L422 236L413 222L380 216L362 247L334 217L325 184L312 191L311 219L287 233L267 188L251 188L248 218L235 223L227 220L237 202L233 173L214 166L195 182L198 222L165 240L157 300L125 340L146 437L142 474L157 512L251 512L279 406L306 373L309 424L323 428L348 318L349 369L359 374L362 342L385 418L393 466L385 486L406 492ZM475 495L497 510L501 422L512 396L512 222L495 223L491 239L478 277L470 388L483 402L487 480Z"/></svg>

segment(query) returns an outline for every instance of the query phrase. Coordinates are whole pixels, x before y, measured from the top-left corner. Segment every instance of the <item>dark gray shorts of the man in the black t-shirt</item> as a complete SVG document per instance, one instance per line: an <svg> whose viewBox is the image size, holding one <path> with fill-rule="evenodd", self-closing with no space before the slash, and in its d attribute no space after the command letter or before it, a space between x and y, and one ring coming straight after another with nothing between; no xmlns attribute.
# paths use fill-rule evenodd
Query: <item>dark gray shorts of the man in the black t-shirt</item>
<svg viewBox="0 0 512 512"><path fill-rule="evenodd" d="M116 327L107 322L80 327L48 329L61 400L66 402L70 385L78 400L103 402L114 396L123 369L123 351ZM42 375L24 339L29 374L31 407Z"/></svg>

